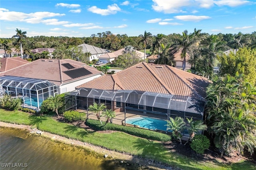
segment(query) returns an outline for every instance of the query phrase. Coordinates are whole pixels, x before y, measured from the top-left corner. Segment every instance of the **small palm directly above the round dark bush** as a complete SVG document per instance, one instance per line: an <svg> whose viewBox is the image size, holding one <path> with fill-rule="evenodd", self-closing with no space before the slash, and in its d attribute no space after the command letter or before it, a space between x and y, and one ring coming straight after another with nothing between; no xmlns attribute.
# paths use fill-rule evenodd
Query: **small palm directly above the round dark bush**
<svg viewBox="0 0 256 170"><path fill-rule="evenodd" d="M187 120L188 120L187 129L188 129L188 133L190 135L188 141L191 141L194 138L196 132L204 131L207 129L207 126L205 124L203 124L203 122L200 120L193 121L192 117L191 117L191 119L187 118ZM188 141L184 145L186 145L188 143Z"/></svg>

